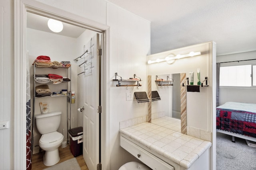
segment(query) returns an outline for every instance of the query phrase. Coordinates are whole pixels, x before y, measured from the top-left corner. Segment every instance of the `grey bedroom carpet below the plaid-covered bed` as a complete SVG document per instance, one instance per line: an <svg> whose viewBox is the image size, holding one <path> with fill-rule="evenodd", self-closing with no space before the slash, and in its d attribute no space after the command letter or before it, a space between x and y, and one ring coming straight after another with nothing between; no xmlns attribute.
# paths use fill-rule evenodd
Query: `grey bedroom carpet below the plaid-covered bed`
<svg viewBox="0 0 256 170"><path fill-rule="evenodd" d="M216 133L216 170L256 170L256 148L245 139Z"/></svg>

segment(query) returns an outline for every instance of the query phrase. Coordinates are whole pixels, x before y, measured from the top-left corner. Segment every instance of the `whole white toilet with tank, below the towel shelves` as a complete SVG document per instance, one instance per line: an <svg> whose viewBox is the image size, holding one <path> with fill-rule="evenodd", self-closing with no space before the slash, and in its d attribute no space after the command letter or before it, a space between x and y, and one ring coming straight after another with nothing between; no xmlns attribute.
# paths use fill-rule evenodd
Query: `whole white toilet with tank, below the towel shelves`
<svg viewBox="0 0 256 170"><path fill-rule="evenodd" d="M60 161L59 147L64 136L57 132L60 126L61 111L35 115L36 127L40 134L39 147L45 150L44 165L52 166Z"/></svg>

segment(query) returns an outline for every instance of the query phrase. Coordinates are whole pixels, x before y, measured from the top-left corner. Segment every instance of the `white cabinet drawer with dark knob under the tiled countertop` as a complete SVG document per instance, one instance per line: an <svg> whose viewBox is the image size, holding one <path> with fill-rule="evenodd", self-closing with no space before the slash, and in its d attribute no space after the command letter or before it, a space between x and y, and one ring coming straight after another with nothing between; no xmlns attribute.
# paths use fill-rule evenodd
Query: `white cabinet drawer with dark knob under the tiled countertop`
<svg viewBox="0 0 256 170"><path fill-rule="evenodd" d="M120 146L153 170L174 170L170 164L167 164L122 136L120 137Z"/></svg>

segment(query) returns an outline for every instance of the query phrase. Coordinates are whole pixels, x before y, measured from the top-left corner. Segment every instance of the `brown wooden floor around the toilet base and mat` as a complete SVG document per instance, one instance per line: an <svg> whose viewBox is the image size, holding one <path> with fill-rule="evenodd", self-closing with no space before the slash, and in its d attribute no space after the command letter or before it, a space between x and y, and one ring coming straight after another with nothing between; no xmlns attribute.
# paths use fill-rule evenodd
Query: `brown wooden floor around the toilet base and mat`
<svg viewBox="0 0 256 170"><path fill-rule="evenodd" d="M65 160L74 158L73 154L70 151L69 145L65 148L59 147L59 153L60 153L60 161L58 162L58 164L61 162L64 162ZM50 167L50 166L44 165L43 156L44 156L44 151L41 153L36 153L32 155L32 170L43 170L45 168ZM83 155L77 156L76 160L81 170L88 170L86 163L84 162Z"/></svg>

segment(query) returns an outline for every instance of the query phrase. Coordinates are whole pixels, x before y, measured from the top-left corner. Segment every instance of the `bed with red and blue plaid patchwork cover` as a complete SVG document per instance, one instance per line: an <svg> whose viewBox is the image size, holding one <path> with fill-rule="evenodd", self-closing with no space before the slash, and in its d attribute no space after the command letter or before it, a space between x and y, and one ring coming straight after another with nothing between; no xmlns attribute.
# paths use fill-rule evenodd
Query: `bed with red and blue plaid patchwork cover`
<svg viewBox="0 0 256 170"><path fill-rule="evenodd" d="M216 107L216 131L256 142L256 104L226 102Z"/></svg>

